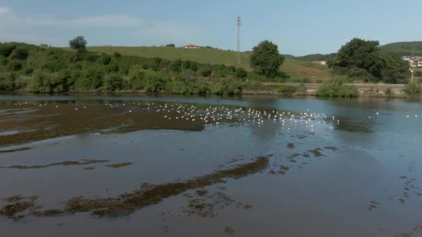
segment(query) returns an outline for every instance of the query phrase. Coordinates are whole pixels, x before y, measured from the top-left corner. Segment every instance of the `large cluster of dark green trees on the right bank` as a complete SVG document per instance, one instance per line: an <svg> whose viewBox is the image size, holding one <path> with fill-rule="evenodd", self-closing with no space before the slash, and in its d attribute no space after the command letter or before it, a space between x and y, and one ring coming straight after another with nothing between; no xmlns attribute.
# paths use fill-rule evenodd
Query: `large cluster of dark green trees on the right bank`
<svg viewBox="0 0 422 237"><path fill-rule="evenodd" d="M354 38L328 61L335 73L368 82L405 83L410 65L396 53L381 53L378 41Z"/></svg>

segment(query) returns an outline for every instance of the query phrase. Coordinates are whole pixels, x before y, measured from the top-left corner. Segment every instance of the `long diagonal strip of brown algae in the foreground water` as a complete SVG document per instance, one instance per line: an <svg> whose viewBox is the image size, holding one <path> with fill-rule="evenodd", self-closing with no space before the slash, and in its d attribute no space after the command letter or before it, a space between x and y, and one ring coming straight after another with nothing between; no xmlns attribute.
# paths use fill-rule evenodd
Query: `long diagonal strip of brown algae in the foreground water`
<svg viewBox="0 0 422 237"><path fill-rule="evenodd" d="M35 207L34 200L32 200L32 202L20 203L20 196L16 196L5 199L15 201L15 204L14 206L6 205L6 207L0 209L0 215L16 220L19 220L24 216L57 216L64 213L88 211L92 211L92 215L94 216L107 216L112 218L126 216L137 209L142 209L142 207L158 204L164 198L179 195L191 189L204 188L205 186L225 182L225 179L228 178L239 179L241 177L246 177L247 175L264 170L267 166L269 166L268 157L257 157L252 162L241 164L228 170L217 170L209 175L203 175L181 182L171 182L159 185L143 184L140 189L131 193L121 194L116 198L71 198L67 200L65 209L63 210L31 210L31 207ZM24 211L27 210L29 210L29 212L24 213ZM17 218L17 214L19 214L19 218Z"/></svg>

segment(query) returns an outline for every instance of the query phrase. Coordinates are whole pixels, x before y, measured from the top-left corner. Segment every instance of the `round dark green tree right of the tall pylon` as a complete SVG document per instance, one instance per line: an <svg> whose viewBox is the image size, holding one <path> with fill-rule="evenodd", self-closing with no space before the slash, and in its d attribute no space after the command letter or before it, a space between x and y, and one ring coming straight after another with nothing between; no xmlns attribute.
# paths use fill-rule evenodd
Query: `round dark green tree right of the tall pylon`
<svg viewBox="0 0 422 237"><path fill-rule="evenodd" d="M274 78L278 76L278 69L284 60L285 57L278 53L278 46L269 40L264 40L253 47L250 63L255 73Z"/></svg>

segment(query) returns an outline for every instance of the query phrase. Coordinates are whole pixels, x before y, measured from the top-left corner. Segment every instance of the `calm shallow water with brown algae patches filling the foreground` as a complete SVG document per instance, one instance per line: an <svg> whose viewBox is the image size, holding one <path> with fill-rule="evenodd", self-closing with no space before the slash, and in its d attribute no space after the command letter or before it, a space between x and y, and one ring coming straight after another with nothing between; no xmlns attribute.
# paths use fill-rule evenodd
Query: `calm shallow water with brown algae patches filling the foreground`
<svg viewBox="0 0 422 237"><path fill-rule="evenodd" d="M21 197L1 236L421 236L421 119L374 98L3 95L0 198Z"/></svg>

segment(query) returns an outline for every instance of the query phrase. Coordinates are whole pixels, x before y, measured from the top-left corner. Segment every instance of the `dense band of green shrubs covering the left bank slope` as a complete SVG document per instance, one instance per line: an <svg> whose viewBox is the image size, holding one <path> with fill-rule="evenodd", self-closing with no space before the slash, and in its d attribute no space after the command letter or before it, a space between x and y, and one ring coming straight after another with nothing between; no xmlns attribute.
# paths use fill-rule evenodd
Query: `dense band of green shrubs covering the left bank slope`
<svg viewBox="0 0 422 237"><path fill-rule="evenodd" d="M242 68L0 43L0 91L169 91L239 94L246 80L263 80Z"/></svg>

